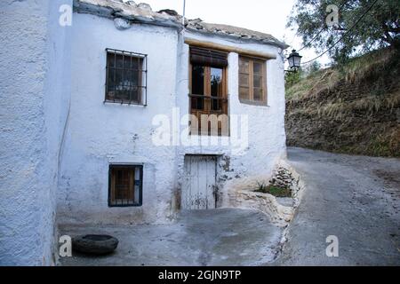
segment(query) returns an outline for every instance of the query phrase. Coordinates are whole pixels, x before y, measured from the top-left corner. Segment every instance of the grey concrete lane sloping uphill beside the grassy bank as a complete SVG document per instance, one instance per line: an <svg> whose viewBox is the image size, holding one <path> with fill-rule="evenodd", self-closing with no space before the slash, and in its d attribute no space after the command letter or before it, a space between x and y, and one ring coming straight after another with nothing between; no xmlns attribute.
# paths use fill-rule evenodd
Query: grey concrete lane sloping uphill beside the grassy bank
<svg viewBox="0 0 400 284"><path fill-rule="evenodd" d="M400 160L289 148L307 189L276 265L400 265ZM326 237L339 238L327 257Z"/></svg>

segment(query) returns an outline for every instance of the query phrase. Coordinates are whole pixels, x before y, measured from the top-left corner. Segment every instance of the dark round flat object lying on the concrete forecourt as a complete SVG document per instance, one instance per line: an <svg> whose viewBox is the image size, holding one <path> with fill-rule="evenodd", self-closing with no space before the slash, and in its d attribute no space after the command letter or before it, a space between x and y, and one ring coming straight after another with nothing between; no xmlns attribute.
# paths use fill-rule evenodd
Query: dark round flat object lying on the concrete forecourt
<svg viewBox="0 0 400 284"><path fill-rule="evenodd" d="M108 255L116 250L118 240L115 237L100 234L86 234L72 239L72 248L89 255Z"/></svg>

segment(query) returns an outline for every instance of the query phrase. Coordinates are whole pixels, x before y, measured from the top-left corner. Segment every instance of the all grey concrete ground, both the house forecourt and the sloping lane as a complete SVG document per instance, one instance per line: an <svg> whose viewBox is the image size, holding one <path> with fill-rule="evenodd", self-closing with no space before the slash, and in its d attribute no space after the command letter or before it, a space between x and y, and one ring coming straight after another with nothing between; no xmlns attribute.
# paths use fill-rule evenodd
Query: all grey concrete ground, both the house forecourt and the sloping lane
<svg viewBox="0 0 400 284"><path fill-rule="evenodd" d="M183 211L171 225L60 226L71 236L108 233L112 256L63 265L400 265L400 160L288 149L307 185L275 259L283 230L258 211ZM326 237L339 239L328 257Z"/></svg>

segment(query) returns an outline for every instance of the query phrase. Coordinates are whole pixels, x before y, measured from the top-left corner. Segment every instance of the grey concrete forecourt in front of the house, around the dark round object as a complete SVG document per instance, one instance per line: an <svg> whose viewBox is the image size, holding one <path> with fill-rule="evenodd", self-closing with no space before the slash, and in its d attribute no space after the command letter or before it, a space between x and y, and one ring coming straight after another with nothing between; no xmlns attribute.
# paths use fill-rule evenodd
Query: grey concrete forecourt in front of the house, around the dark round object
<svg viewBox="0 0 400 284"><path fill-rule="evenodd" d="M111 256L74 253L61 265L260 265L276 256L282 229L259 211L214 209L183 211L172 225L61 225L60 233L106 233L120 241Z"/></svg>

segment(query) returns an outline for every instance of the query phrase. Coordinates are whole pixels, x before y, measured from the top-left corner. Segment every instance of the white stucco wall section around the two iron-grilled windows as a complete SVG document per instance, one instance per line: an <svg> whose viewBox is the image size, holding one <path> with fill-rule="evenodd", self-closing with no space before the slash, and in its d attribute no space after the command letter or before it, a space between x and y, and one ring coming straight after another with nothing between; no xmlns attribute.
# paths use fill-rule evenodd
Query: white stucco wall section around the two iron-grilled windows
<svg viewBox="0 0 400 284"><path fill-rule="evenodd" d="M72 105L63 150L60 223L135 224L164 220L174 186L173 147L151 142L152 117L175 104L177 32L74 14ZM104 104L106 48L148 54L148 106ZM143 206L108 208L108 164L143 163Z"/></svg>

